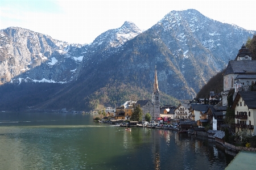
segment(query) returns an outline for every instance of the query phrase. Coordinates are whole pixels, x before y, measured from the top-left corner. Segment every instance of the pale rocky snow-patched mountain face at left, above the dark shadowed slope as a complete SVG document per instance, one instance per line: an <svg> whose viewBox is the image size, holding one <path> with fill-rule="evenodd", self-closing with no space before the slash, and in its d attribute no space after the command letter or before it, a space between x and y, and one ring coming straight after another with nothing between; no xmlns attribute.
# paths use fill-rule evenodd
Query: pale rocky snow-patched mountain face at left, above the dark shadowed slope
<svg viewBox="0 0 256 170"><path fill-rule="evenodd" d="M102 33L88 44L69 44L24 28L0 31L0 78L6 82L70 82L85 56L121 46L141 33L131 22ZM89 55L87 55L89 54Z"/></svg>

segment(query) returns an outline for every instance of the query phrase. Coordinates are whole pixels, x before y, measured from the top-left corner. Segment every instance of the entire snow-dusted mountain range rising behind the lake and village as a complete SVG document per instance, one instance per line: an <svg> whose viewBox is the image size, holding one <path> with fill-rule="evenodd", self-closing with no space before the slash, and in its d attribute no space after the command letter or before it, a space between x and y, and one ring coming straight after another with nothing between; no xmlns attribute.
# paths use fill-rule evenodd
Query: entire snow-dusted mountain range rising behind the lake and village
<svg viewBox="0 0 256 170"><path fill-rule="evenodd" d="M162 104L193 99L254 34L196 10L171 11L144 32L134 23L125 22L84 45L53 40L23 28L3 29L0 75L5 86L0 92L5 95L0 109L10 108L13 102L20 107L82 110L151 99L155 67ZM27 86L21 82L27 82ZM42 87L38 82L52 85ZM53 82L58 82L59 88ZM33 90L39 86L46 91ZM12 96L19 92L20 97L11 100L7 91ZM36 100L29 91L37 94ZM20 102L26 100L25 104Z"/></svg>

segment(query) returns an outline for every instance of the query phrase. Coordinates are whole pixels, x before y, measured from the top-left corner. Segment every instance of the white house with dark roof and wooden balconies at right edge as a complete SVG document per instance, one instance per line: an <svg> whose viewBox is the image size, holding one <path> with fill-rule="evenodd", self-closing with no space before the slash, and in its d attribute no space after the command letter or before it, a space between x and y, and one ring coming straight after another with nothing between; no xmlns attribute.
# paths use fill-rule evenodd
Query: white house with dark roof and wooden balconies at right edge
<svg viewBox="0 0 256 170"><path fill-rule="evenodd" d="M235 110L236 133L247 129L255 133L256 122L256 91L240 91L237 93L232 109Z"/></svg>

